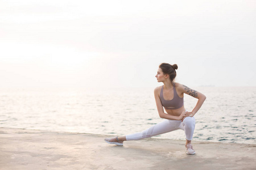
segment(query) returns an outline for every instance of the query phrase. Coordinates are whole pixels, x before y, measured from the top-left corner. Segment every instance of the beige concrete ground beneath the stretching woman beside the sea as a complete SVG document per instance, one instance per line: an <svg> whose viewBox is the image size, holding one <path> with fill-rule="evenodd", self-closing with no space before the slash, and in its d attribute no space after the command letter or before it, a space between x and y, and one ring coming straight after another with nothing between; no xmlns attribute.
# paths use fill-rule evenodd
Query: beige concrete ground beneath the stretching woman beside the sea
<svg viewBox="0 0 256 170"><path fill-rule="evenodd" d="M256 169L256 145L143 139L109 145L106 135L0 128L0 169ZM109 137L109 136L108 136Z"/></svg>

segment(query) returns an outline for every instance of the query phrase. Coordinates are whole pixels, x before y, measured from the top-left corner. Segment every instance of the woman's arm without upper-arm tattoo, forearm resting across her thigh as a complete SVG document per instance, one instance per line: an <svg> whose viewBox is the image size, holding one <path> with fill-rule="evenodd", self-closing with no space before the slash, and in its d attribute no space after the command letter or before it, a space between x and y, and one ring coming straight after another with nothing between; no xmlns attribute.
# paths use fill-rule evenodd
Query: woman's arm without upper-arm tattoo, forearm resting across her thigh
<svg viewBox="0 0 256 170"><path fill-rule="evenodd" d="M158 87L155 88L154 95L155 95L156 108L158 109L158 114L159 114L160 118L166 118L168 120L182 120L183 119L183 117L185 116L185 112L182 112L180 114L180 116L173 116L171 114L164 113L163 105L162 105L160 97L158 95Z"/></svg>

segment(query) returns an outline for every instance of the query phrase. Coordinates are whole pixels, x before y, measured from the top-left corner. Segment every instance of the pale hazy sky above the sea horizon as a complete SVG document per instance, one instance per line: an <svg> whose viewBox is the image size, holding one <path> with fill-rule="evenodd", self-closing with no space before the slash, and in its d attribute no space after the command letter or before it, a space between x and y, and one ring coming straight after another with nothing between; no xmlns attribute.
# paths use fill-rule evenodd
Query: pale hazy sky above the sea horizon
<svg viewBox="0 0 256 170"><path fill-rule="evenodd" d="M256 86L256 1L0 0L0 87Z"/></svg>

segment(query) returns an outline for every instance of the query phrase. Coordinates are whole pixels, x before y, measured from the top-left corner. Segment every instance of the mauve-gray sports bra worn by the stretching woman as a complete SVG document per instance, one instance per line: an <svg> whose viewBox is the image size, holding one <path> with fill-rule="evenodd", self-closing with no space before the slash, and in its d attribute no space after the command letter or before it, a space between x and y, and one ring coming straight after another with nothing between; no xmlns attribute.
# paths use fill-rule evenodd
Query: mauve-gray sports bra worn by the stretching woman
<svg viewBox="0 0 256 170"><path fill-rule="evenodd" d="M175 84L174 84L174 99L172 99L172 100L164 100L164 97L163 97L163 86L162 86L162 89L161 89L161 92L160 92L160 100L162 102L162 105L163 105L164 109L171 109L171 110L179 109L179 108L183 107L183 104L184 104L183 97L180 98L177 95Z"/></svg>

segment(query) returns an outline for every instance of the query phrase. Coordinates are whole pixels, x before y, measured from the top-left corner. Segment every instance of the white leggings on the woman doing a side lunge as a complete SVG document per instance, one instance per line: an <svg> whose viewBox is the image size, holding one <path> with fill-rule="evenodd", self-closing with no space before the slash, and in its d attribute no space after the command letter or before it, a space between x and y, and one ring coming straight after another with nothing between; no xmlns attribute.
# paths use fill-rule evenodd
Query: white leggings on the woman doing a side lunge
<svg viewBox="0 0 256 170"><path fill-rule="evenodd" d="M164 120L147 130L126 135L126 140L131 141L131 140L139 140L143 138L150 138L150 137L154 137L155 135L160 135L170 131L182 129L185 131L186 139L188 141L191 141L193 137L195 125L196 125L195 117L185 117L182 122L176 121L176 120Z"/></svg>

